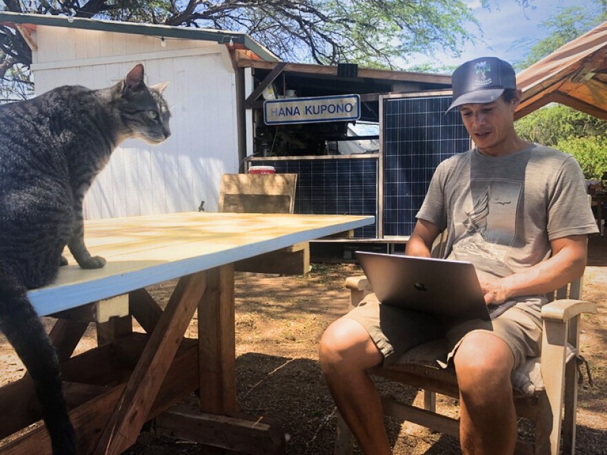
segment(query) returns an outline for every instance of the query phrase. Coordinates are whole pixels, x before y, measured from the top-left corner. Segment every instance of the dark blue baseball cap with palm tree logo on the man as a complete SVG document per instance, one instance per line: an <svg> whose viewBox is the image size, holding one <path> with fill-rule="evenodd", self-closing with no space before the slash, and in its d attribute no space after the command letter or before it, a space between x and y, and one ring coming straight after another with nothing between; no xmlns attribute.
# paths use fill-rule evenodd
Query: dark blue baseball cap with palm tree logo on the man
<svg viewBox="0 0 607 455"><path fill-rule="evenodd" d="M507 88L517 88L515 70L507 61L497 57L481 57L470 60L453 72L451 77L455 106L468 103L490 103Z"/></svg>

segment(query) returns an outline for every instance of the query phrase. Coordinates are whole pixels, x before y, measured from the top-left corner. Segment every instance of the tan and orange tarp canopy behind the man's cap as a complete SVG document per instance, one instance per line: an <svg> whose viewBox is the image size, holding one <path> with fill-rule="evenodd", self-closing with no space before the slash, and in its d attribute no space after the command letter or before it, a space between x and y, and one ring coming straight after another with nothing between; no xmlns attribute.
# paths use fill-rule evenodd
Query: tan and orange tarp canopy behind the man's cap
<svg viewBox="0 0 607 455"><path fill-rule="evenodd" d="M607 120L607 22L517 74L517 85L517 119L560 103Z"/></svg>

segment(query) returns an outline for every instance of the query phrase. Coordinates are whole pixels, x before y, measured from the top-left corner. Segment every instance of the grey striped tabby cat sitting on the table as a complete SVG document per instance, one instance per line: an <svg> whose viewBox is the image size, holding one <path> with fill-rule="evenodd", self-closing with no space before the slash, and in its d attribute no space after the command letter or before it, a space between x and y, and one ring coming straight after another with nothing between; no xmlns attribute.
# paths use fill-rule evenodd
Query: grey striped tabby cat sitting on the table
<svg viewBox="0 0 607 455"><path fill-rule="evenodd" d="M26 292L55 279L66 245L84 269L106 264L84 245L83 197L121 141L170 136L166 85L148 87L139 64L106 89L65 85L0 105L0 330L32 377L53 454L75 454L77 441L57 354Z"/></svg>

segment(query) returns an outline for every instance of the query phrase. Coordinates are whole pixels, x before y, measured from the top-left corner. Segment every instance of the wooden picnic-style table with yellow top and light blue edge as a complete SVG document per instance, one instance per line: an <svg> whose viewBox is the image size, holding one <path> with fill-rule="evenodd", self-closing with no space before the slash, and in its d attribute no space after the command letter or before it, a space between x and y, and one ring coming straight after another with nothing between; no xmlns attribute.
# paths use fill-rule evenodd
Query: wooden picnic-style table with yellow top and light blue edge
<svg viewBox="0 0 607 455"><path fill-rule="evenodd" d="M108 260L106 267L62 267L55 283L28 294L41 316L59 316L50 337L79 453L119 454L155 417L159 429L181 438L252 454L281 452L276 425L239 412L233 263L373 221L191 212L86 223L86 244ZM144 287L176 278L162 310ZM196 310L198 338L184 338ZM132 332L132 317L146 333ZM91 321L99 346L72 356ZM195 391L200 412L172 408ZM0 389L0 406L1 437L41 418L27 374ZM43 426L3 447L3 453L41 452L50 453Z"/></svg>

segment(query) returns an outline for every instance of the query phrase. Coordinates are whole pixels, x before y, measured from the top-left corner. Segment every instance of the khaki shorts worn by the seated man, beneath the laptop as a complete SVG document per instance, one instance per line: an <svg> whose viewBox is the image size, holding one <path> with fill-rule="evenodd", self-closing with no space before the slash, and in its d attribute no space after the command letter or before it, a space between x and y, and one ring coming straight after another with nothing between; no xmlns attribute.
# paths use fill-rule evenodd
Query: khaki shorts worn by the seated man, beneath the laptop
<svg viewBox="0 0 607 455"><path fill-rule="evenodd" d="M539 356L541 352L540 310L544 303L546 299L542 297L519 297L515 306L492 321L457 320L381 305L375 294L369 294L344 317L354 319L365 328L379 352L384 354L384 365L396 362L412 347L438 338L448 341L449 352L445 358L437 359L446 364L464 336L471 332L489 332L510 347L517 368L526 357Z"/></svg>

